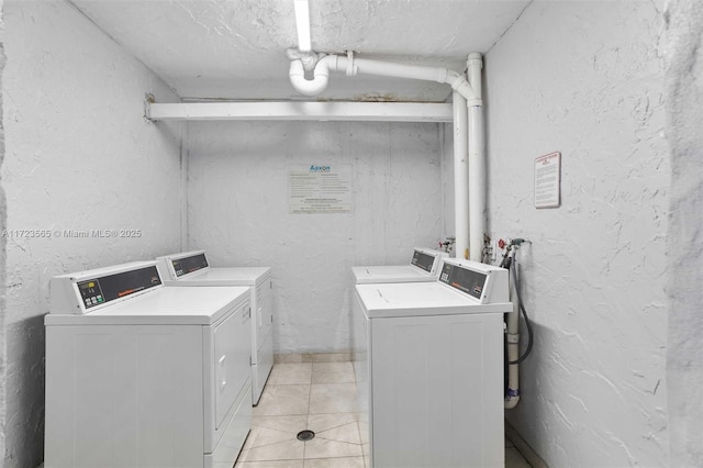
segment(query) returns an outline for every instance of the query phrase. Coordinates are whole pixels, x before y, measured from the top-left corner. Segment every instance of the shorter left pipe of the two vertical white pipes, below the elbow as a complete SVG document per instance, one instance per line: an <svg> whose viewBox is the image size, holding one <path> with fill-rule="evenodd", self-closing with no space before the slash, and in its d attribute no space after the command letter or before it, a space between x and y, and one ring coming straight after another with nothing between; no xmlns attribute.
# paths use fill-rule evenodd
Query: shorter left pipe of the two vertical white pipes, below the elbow
<svg viewBox="0 0 703 468"><path fill-rule="evenodd" d="M466 99L454 91L454 223L455 257L468 258L469 249L469 166L468 166L468 115Z"/></svg>

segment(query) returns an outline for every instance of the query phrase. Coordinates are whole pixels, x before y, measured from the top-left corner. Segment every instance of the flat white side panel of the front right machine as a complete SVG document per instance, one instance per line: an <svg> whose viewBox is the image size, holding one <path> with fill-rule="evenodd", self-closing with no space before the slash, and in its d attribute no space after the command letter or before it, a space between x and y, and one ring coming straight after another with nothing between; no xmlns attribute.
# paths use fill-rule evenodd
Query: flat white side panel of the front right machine
<svg viewBox="0 0 703 468"><path fill-rule="evenodd" d="M371 319L378 467L502 467L502 315Z"/></svg>

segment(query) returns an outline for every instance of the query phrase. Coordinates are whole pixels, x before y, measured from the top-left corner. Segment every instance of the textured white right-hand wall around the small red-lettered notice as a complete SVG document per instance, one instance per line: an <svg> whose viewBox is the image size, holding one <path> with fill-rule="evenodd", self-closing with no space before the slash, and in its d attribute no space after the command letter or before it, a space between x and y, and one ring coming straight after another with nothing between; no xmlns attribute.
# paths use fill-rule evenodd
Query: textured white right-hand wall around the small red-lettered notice
<svg viewBox="0 0 703 468"><path fill-rule="evenodd" d="M535 1L486 57L490 233L533 242L535 345L507 419L555 467L667 464L661 9ZM536 210L554 151L562 204Z"/></svg>

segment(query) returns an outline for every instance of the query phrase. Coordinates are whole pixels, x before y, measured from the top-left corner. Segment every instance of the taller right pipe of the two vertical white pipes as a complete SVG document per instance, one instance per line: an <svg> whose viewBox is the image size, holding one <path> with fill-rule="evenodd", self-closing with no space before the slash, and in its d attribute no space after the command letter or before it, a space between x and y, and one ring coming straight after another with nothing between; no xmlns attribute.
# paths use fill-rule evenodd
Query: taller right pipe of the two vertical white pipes
<svg viewBox="0 0 703 468"><path fill-rule="evenodd" d="M481 54L469 54L468 76L476 99L467 101L469 111L469 253L481 261L486 232L486 147L483 136L483 101L481 94Z"/></svg>

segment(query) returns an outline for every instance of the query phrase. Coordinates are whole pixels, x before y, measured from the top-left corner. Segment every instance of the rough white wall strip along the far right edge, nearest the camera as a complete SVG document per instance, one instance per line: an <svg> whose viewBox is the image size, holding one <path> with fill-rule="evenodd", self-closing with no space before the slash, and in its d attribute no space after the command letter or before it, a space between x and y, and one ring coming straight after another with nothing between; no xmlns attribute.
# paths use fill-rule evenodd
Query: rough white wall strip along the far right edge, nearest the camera
<svg viewBox="0 0 703 468"><path fill-rule="evenodd" d="M703 466L703 5L667 4L670 466Z"/></svg>

